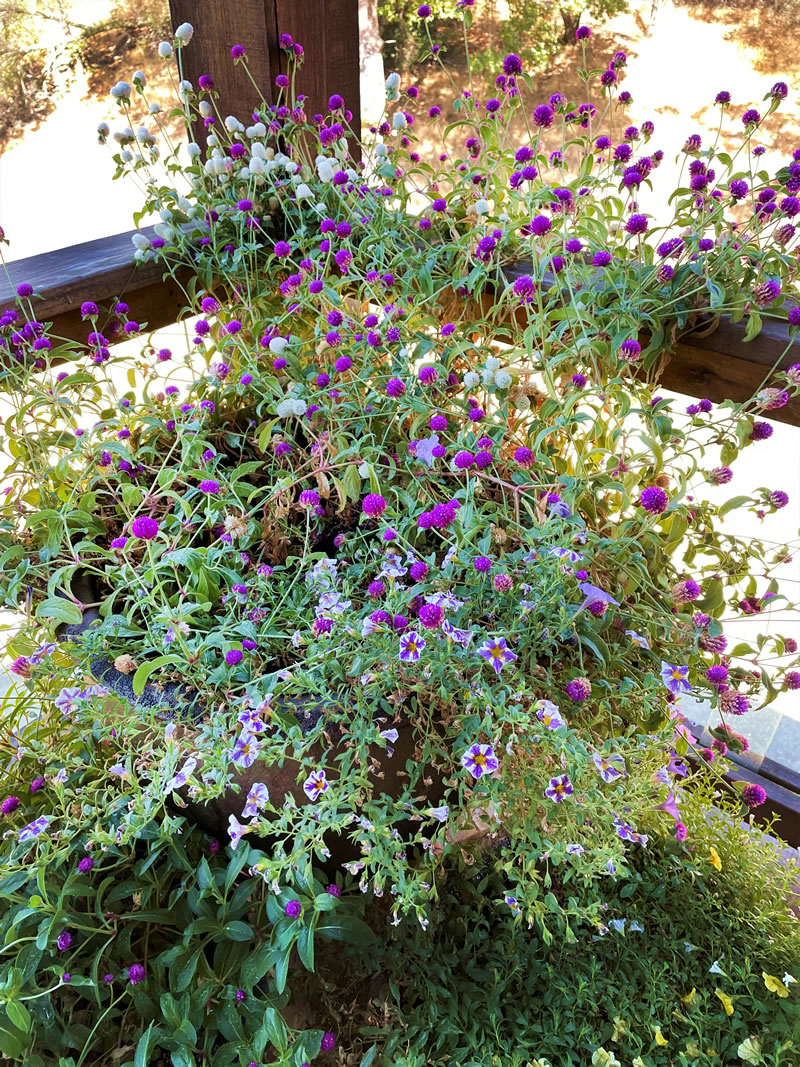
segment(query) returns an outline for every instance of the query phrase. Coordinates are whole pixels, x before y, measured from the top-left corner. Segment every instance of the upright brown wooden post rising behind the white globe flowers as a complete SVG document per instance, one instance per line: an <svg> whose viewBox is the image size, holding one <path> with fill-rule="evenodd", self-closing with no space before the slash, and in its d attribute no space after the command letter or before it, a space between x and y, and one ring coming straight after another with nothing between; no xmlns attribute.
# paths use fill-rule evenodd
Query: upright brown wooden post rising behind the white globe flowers
<svg viewBox="0 0 800 1067"><path fill-rule="evenodd" d="M253 78L272 100L275 77L286 69L278 39L288 33L304 49L297 90L307 96L306 114L324 114L330 96L339 93L359 130L358 0L170 0L170 12L173 27L194 27L181 55L183 77L195 86L202 74L213 78L223 117L246 124L258 102L231 47L244 46Z"/></svg>

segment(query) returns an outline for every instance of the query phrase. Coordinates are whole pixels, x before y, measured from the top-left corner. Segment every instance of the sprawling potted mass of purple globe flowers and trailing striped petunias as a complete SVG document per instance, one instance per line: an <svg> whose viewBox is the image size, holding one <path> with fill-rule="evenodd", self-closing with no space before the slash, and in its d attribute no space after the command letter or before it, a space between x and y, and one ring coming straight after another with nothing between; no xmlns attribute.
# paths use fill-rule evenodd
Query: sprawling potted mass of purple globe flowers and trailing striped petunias
<svg viewBox="0 0 800 1067"><path fill-rule="evenodd" d="M45 872L77 837L123 864L144 842L155 864L176 812L223 802L234 857L245 834L265 843L247 877L273 906L327 864L425 929L446 872L480 847L503 928L586 952L609 898L654 877L651 851L691 892L703 833L678 696L719 708L698 753L717 781L741 744L729 719L800 683L789 638L759 639L743 668L721 623L785 602L785 550L724 521L766 519L786 494L711 495L800 370L743 404L684 411L657 392L701 316L747 316L749 338L787 316L794 339L800 163L757 169L749 109L737 153L688 138L656 224L662 154L650 125L625 125L623 53L598 87L583 74L596 107L532 109L509 54L495 98L464 93L452 123L430 108L437 162L397 76L358 143L341 97L306 114L303 50L282 47L289 74L250 125L218 112L210 75L181 81L186 157L134 131L141 78L113 90L117 174L160 216L135 254L185 286L185 356L146 340L117 354L113 339L145 334L146 308L122 301L84 304L85 349L36 322L25 284L0 317L0 578L28 608L13 669L57 735L62 717L93 742L41 752L48 803L7 812L11 862L25 846ZM764 799L740 797L740 814Z"/></svg>

